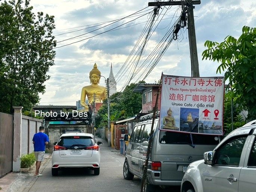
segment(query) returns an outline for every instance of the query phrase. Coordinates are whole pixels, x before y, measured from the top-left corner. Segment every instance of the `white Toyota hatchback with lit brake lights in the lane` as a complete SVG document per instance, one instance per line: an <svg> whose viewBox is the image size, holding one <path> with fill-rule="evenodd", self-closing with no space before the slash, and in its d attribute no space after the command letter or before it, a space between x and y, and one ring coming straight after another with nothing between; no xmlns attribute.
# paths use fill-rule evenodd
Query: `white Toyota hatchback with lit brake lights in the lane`
<svg viewBox="0 0 256 192"><path fill-rule="evenodd" d="M101 154L93 134L64 133L53 148L52 176L58 176L61 168L87 167L99 175Z"/></svg>

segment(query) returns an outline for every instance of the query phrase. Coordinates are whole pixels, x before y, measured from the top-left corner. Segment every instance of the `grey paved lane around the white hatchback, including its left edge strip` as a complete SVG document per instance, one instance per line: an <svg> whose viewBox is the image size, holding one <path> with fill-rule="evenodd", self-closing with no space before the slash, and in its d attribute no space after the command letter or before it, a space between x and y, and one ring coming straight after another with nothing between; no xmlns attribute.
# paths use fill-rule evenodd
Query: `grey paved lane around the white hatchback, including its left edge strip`
<svg viewBox="0 0 256 192"><path fill-rule="evenodd" d="M34 177L35 167L27 173L10 173L0 179L0 186L7 192L139 192L141 180L135 177L132 181L123 178L124 155L120 151L108 147L105 140L96 137L103 142L101 151L101 170L98 176L91 170L75 169L59 171L59 175L53 177L51 173L51 157L46 154L42 162L40 173L42 177ZM6 177L6 178L5 178ZM4 186L4 178L13 177L13 183Z"/></svg>

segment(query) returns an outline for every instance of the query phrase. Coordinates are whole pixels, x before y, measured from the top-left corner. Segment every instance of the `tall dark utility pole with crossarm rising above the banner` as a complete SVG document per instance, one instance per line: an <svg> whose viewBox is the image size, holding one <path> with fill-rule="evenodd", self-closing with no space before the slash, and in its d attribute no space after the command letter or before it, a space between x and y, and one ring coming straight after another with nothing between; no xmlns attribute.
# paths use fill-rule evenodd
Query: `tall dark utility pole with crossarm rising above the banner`
<svg viewBox="0 0 256 192"><path fill-rule="evenodd" d="M190 61L191 61L191 76L200 77L199 75L199 64L197 55L197 41L195 37L195 22L194 22L194 4L201 4L200 0L185 0L185 1L157 1L149 2L148 6L171 6L171 5L182 5L186 6L186 13L188 15L188 39L189 39L189 50L190 50Z"/></svg>

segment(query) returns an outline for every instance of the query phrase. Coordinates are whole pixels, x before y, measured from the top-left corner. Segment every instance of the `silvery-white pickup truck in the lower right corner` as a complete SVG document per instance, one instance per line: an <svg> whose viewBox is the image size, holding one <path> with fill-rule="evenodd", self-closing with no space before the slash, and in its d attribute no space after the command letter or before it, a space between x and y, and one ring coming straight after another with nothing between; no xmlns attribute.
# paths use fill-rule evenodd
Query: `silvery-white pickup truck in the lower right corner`
<svg viewBox="0 0 256 192"><path fill-rule="evenodd" d="M181 192L256 190L256 120L229 133L204 160L192 162Z"/></svg>

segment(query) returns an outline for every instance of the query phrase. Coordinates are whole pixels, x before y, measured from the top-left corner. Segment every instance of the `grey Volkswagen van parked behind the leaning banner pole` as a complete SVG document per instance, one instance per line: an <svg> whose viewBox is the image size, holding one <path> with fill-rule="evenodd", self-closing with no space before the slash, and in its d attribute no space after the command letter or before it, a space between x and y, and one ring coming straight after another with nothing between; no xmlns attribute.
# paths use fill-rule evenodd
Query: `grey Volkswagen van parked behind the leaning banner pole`
<svg viewBox="0 0 256 192"><path fill-rule="evenodd" d="M152 115L151 115L152 116ZM142 179L148 149L152 119L137 123L126 147L123 166L124 179L134 176ZM144 116L144 119L146 117ZM151 152L146 176L146 191L154 192L158 187L179 186L188 165L203 159L203 153L213 150L220 136L190 134L158 129L159 118L154 120ZM124 140L127 140L125 135Z"/></svg>

